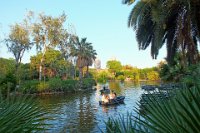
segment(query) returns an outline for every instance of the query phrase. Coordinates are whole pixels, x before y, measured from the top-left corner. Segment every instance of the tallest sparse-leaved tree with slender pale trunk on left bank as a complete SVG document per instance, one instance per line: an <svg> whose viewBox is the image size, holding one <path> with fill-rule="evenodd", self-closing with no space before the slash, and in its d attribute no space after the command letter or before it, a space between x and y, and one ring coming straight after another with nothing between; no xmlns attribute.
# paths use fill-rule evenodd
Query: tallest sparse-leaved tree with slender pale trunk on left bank
<svg viewBox="0 0 200 133"><path fill-rule="evenodd" d="M59 17L47 16L39 14L38 22L33 23L32 35L36 42L36 47L42 52L42 58L40 61L39 80L42 79L42 67L44 65L44 56L48 48L55 48L63 39L64 35L67 35L64 30L64 22L66 21L66 15L62 14Z"/></svg>

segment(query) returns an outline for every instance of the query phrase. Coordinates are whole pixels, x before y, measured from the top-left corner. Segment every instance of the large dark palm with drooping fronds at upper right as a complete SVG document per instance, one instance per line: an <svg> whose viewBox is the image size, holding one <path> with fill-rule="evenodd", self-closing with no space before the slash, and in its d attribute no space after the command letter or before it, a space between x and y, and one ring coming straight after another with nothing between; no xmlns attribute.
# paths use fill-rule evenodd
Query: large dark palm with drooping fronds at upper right
<svg viewBox="0 0 200 133"><path fill-rule="evenodd" d="M131 5L134 0L123 0ZM139 49L151 45L151 56L157 58L166 44L167 61L173 64L177 52L184 65L199 61L197 42L200 30L200 2L197 0L140 0L135 2L128 26L136 30Z"/></svg>

